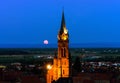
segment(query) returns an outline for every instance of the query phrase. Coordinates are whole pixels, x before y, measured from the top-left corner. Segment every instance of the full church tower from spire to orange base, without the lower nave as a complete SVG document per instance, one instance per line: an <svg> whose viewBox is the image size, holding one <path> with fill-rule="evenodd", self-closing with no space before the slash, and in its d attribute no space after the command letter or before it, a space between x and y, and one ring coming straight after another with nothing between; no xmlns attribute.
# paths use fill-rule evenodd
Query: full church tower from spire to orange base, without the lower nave
<svg viewBox="0 0 120 83"><path fill-rule="evenodd" d="M65 25L64 12L62 13L62 21L60 31L58 33L58 68L59 77L69 77L69 34Z"/></svg>

